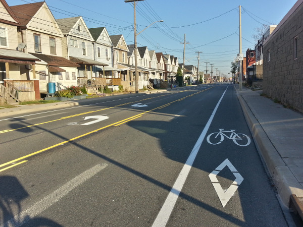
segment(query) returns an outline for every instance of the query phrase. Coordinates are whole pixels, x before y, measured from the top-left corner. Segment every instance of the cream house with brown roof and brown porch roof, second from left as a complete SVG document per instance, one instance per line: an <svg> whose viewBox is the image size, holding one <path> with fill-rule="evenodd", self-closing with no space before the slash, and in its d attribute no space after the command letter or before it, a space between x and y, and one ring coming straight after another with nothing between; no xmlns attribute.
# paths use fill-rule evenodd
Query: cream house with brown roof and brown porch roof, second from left
<svg viewBox="0 0 303 227"><path fill-rule="evenodd" d="M18 43L24 43L23 52L34 55L39 61L35 65L20 67L27 72L27 79L39 80L41 96L48 93L50 82L77 85L76 63L63 58L63 33L45 2L10 7L19 20Z"/></svg>

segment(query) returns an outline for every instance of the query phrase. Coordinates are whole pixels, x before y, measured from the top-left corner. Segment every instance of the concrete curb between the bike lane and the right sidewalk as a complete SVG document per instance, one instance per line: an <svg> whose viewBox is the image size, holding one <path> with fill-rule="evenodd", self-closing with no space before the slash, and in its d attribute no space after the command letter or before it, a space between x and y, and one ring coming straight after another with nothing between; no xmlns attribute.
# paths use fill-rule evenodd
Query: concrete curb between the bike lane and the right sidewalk
<svg viewBox="0 0 303 227"><path fill-rule="evenodd" d="M302 187L269 140L243 97L238 91L236 93L257 149L266 163L270 176L273 178L281 201L285 206L289 207L290 195L301 196L302 192L300 189Z"/></svg>

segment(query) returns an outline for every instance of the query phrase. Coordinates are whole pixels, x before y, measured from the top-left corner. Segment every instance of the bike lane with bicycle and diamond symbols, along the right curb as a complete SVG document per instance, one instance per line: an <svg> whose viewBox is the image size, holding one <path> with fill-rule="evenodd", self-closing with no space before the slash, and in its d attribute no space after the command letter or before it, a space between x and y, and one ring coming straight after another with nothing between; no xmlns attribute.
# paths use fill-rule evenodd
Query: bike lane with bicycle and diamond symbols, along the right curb
<svg viewBox="0 0 303 227"><path fill-rule="evenodd" d="M214 92L223 93L222 86ZM220 129L226 132L215 138ZM180 224L287 226L232 86L205 132L166 225Z"/></svg>

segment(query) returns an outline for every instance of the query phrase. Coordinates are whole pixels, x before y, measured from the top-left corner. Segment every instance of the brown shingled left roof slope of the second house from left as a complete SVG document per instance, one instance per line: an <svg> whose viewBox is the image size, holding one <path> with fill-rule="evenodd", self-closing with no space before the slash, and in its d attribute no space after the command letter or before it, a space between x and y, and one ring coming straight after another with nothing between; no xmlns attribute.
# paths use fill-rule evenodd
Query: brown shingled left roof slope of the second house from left
<svg viewBox="0 0 303 227"><path fill-rule="evenodd" d="M18 18L21 26L26 26L28 22L35 16L38 10L43 6L45 2L30 3L18 6L11 6L11 10Z"/></svg>

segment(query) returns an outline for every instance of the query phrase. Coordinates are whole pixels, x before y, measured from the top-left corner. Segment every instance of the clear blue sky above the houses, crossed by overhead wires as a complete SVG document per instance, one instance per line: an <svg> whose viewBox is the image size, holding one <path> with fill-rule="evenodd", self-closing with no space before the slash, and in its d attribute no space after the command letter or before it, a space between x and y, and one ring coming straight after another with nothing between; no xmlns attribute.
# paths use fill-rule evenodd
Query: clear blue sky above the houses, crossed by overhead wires
<svg viewBox="0 0 303 227"><path fill-rule="evenodd" d="M6 0L9 6L41 0ZM109 35L123 34L134 43L134 7L124 0L45 0L55 19L82 16L88 28L106 27ZM242 52L254 49L253 35L263 25L278 24L296 0L143 0L136 2L138 46L178 57L199 71L213 67L214 75L230 77L231 62L239 53L239 6ZM208 63L208 64L206 64ZM209 71L210 72L210 71Z"/></svg>

